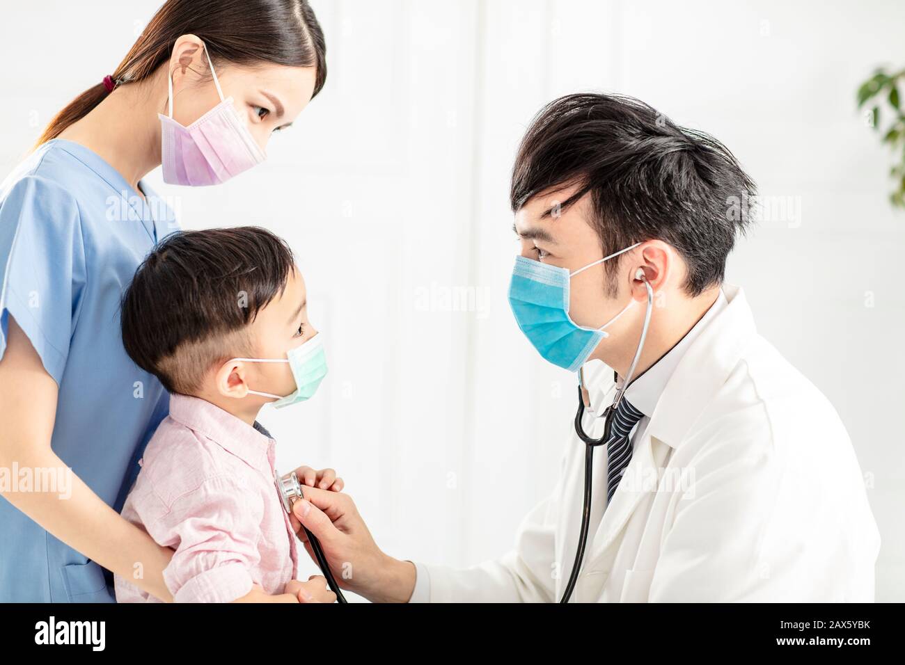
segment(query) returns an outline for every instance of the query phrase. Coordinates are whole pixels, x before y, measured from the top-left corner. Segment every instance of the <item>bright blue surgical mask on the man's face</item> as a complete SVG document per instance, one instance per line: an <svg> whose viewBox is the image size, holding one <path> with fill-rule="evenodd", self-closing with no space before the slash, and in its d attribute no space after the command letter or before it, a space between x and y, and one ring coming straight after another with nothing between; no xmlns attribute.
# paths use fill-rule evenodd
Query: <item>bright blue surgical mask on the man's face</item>
<svg viewBox="0 0 905 665"><path fill-rule="evenodd" d="M568 315L569 282L579 272L640 244L636 242L571 273L549 263L516 257L510 282L510 306L519 328L541 356L569 372L577 372L594 353L600 340L609 337L604 328L632 307L634 300L600 328L583 328Z"/></svg>

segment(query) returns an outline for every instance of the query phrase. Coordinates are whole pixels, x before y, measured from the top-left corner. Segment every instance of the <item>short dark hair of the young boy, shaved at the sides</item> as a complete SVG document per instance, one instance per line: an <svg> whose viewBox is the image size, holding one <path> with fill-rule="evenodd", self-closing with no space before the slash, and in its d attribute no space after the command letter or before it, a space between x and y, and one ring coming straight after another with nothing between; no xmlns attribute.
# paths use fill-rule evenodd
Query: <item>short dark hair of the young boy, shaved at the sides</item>
<svg viewBox="0 0 905 665"><path fill-rule="evenodd" d="M262 228L172 233L123 295L123 346L170 393L194 394L214 363L252 351L248 325L294 268L289 245Z"/></svg>

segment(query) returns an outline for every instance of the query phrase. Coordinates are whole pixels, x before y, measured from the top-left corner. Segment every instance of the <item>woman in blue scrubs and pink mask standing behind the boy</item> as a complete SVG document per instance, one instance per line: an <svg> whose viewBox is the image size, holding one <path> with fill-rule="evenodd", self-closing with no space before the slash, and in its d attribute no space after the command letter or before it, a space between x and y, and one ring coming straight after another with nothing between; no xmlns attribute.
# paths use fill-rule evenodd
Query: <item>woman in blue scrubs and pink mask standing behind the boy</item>
<svg viewBox="0 0 905 665"><path fill-rule="evenodd" d="M171 550L119 516L168 404L119 337L122 291L176 229L142 177L162 155L184 185L243 170L204 155L260 159L323 86L324 52L305 0L168 0L0 185L0 602L112 602L110 571L171 600ZM162 130L169 102L187 132Z"/></svg>

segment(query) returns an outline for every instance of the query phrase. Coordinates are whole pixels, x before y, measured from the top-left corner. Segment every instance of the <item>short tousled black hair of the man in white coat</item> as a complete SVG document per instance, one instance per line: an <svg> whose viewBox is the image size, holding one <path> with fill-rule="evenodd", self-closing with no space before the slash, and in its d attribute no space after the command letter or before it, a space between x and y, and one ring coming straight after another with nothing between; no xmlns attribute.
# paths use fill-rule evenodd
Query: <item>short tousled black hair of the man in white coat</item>
<svg viewBox="0 0 905 665"><path fill-rule="evenodd" d="M532 196L578 185L561 203L590 193L590 223L604 255L662 240L688 267L696 296L723 280L736 233L744 232L756 185L715 138L681 128L642 101L574 94L550 102L531 123L512 171L517 212ZM622 256L605 262L612 277ZM610 284L610 290L615 284Z"/></svg>

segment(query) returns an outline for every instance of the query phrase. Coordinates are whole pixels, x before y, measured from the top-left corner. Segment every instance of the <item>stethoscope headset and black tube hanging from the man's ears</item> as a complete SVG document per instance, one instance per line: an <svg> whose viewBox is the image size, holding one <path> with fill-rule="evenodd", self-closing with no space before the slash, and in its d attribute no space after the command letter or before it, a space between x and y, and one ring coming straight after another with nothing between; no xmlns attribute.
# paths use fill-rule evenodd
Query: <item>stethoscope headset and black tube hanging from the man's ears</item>
<svg viewBox="0 0 905 665"><path fill-rule="evenodd" d="M581 562L585 558L587 530L591 522L591 480L594 473L594 449L595 447L608 442L610 439L610 428L612 426L613 417L616 413L616 407L618 407L619 403L622 402L625 391L628 389L629 384L632 383L634 368L638 365L638 359L641 357L644 349L644 339L646 339L647 337L647 328L651 324L651 313L653 312L653 289L651 289L651 285L647 282L647 279L644 276L644 271L641 268L639 268L638 271L635 272L634 279L642 280L644 282L644 286L647 287L647 310L644 312L644 325L641 328L641 337L638 339L638 348L635 349L632 365L628 368L628 372L625 375L623 385L621 388L617 389L613 404L607 406L606 411L604 412L604 417L606 419L604 422L604 435L599 439L593 439L588 436L585 432L585 428L581 424L581 420L585 415L585 396L582 393L582 388L585 385L585 375L584 368L578 370L578 411L575 414L575 432L578 435L578 438L585 442L586 445L585 507L581 512L581 532L578 534L578 547L575 552L575 563L572 564L572 573L571 575L569 575L568 584L566 584L566 590L565 592L563 592L562 600L559 601L560 603L568 603L569 598L572 596L572 592L575 590L575 584L578 579L578 571L581 569Z"/></svg>

